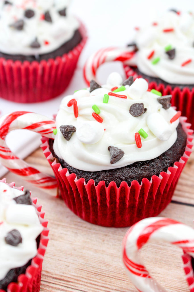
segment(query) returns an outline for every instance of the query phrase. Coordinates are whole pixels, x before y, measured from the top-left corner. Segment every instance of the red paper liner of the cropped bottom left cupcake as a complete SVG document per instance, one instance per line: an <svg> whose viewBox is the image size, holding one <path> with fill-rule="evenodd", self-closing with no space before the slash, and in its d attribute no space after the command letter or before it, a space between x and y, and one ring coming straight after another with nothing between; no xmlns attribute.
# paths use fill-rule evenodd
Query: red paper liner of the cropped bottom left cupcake
<svg viewBox="0 0 194 292"><path fill-rule="evenodd" d="M0 180L2 183L6 183L6 178ZM15 187L15 182L13 183L6 183L10 187L13 187L17 190L22 190L24 187ZM37 198L31 198L33 202L33 206L36 208L36 213L40 220L40 223L44 227L43 231L40 234L40 243L38 247L37 255L32 259L31 265L27 267L26 273L21 274L17 278L17 283L10 283L8 285L7 291L8 292L39 292L40 291L40 279L41 279L41 272L42 272L42 261L45 255L46 247L49 241L48 234L49 229L47 228L48 220L44 219L45 212L42 212L42 206L37 205ZM0 292L5 292L5 290L0 289Z"/></svg>

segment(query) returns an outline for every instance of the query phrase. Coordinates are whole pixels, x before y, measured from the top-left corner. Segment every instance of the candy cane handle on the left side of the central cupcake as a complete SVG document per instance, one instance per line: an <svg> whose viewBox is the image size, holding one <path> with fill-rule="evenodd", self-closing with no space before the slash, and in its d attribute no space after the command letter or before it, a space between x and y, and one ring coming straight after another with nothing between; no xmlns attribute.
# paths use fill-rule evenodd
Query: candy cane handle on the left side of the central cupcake
<svg viewBox="0 0 194 292"><path fill-rule="evenodd" d="M56 179L30 167L19 159L6 145L6 136L16 129L27 129L42 136L53 138L55 121L33 112L13 112L0 118L0 161L9 171L22 176L24 180L44 189L57 187Z"/></svg>

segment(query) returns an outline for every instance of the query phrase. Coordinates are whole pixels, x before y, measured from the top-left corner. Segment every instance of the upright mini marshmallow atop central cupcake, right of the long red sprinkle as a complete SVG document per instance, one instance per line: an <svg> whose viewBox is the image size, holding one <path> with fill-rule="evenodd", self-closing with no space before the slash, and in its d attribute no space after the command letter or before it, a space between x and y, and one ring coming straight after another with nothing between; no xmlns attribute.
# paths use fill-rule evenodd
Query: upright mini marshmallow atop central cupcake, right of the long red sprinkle
<svg viewBox="0 0 194 292"><path fill-rule="evenodd" d="M137 78L134 83L129 86L127 93L131 99L140 99L148 89L148 83L143 78Z"/></svg>

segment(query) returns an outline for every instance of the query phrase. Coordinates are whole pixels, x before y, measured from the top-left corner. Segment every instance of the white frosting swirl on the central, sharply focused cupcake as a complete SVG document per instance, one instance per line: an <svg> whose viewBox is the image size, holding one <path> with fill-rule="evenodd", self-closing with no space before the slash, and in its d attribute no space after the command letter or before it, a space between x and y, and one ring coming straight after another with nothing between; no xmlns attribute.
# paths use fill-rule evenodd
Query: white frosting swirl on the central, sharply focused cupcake
<svg viewBox="0 0 194 292"><path fill-rule="evenodd" d="M112 78L108 78L109 84L103 85L102 88L95 89L91 93L89 89L77 91L63 98L61 102L56 117L57 134L54 151L58 157L74 168L100 171L153 159L168 150L177 139L176 127L179 119L170 123L170 119L177 113L176 110L172 107L165 110L157 101L159 96L147 91L148 84L142 78L136 79L131 86L126 85L124 91L117 93L126 95L126 99L110 95L108 103L103 103L104 94L108 94L113 87L111 80L115 80L114 73L111 76ZM118 78L118 83L114 86L120 85ZM73 106L67 106L73 98L78 105L77 118L74 117ZM130 106L142 102L147 112L139 117L132 116L129 113ZM97 105L100 109L99 116L103 119L102 123L92 117L93 105ZM69 141L65 140L60 132L61 125L76 127L76 132L72 134ZM142 147L138 148L135 133L141 128L148 137L145 139L141 137ZM124 156L115 164L110 163L108 146L118 147L124 151Z"/></svg>

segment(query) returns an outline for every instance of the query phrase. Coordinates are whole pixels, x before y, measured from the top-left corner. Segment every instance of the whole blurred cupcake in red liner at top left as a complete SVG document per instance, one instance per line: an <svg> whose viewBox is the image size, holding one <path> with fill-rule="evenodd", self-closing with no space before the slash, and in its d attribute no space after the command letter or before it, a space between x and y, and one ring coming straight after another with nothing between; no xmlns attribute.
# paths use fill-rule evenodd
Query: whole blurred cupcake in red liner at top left
<svg viewBox="0 0 194 292"><path fill-rule="evenodd" d="M0 6L0 96L38 102L62 93L86 42L83 25L60 0Z"/></svg>

